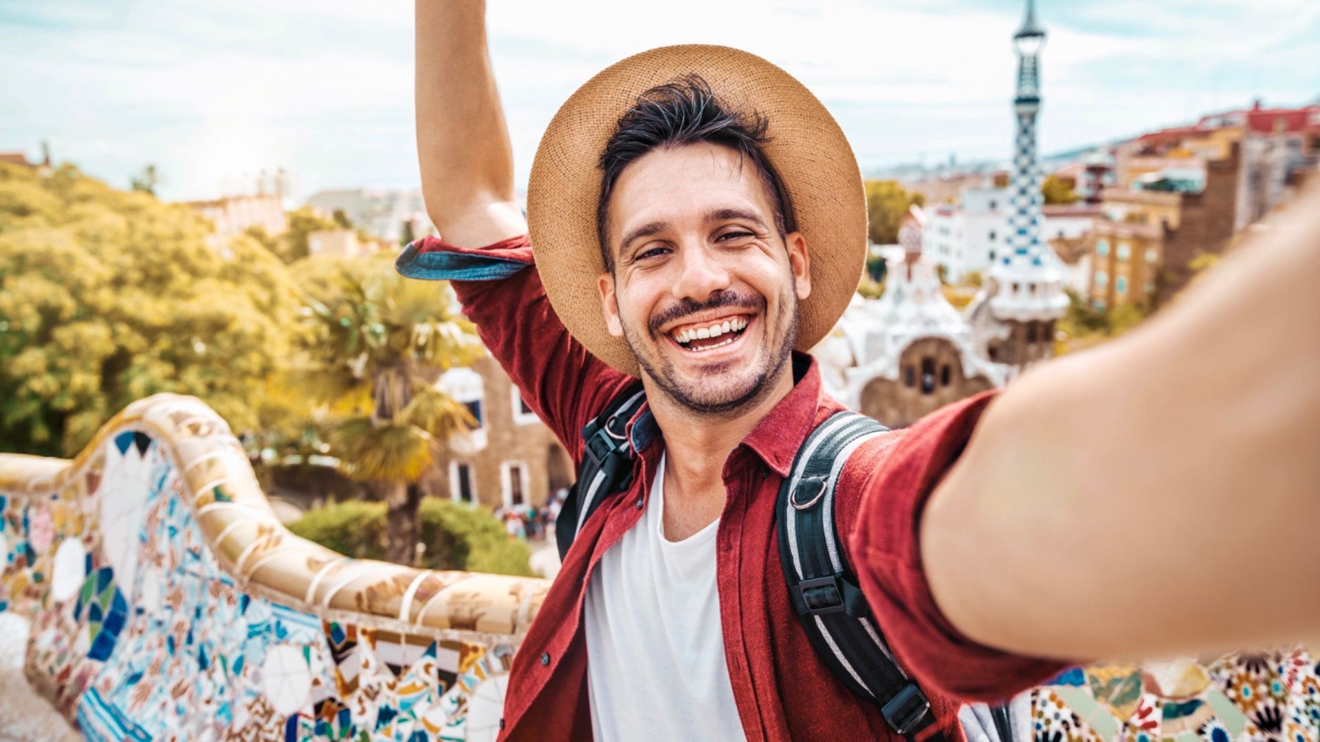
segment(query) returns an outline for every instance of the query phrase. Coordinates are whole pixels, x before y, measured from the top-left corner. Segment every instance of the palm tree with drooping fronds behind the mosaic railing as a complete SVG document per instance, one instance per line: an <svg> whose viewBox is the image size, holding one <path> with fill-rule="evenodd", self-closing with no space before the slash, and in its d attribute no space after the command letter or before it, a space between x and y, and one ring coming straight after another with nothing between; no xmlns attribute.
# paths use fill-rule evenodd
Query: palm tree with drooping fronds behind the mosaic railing
<svg viewBox="0 0 1320 742"><path fill-rule="evenodd" d="M309 287L304 297L309 347L296 383L322 405L327 453L387 503L387 558L412 564L417 481L450 436L473 422L436 380L483 349L447 284L403 279L379 260L334 268L321 290Z"/></svg>

